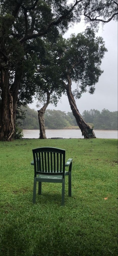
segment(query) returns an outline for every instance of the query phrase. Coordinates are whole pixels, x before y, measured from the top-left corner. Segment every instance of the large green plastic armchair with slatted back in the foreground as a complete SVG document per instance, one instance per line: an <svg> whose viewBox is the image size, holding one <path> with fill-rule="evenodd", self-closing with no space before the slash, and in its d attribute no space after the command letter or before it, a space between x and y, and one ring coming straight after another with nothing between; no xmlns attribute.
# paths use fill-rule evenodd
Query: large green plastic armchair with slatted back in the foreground
<svg viewBox="0 0 118 256"><path fill-rule="evenodd" d="M71 197L71 169L72 159L65 163L65 150L55 147L40 147L33 151L34 161L34 188L33 204L36 202L36 182L38 182L38 195L41 195L42 182L62 183L61 205L64 205L65 176L68 175L68 195ZM65 172L65 167L69 167Z"/></svg>

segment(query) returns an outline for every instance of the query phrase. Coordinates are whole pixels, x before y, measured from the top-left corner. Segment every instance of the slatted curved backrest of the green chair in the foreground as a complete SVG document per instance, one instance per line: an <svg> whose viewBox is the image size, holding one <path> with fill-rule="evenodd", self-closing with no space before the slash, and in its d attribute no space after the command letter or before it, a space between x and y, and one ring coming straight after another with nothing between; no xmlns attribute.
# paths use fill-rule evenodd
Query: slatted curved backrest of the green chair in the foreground
<svg viewBox="0 0 118 256"><path fill-rule="evenodd" d="M65 150L55 147L40 147L32 150L34 157L34 176L65 175Z"/></svg>

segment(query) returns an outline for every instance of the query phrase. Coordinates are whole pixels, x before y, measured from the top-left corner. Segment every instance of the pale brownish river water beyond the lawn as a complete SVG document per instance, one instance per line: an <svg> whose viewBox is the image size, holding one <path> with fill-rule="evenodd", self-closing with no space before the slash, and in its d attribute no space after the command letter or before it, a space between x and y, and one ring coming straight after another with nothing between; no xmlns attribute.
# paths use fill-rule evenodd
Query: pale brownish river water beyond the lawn
<svg viewBox="0 0 118 256"><path fill-rule="evenodd" d="M117 139L117 130L94 130L97 138ZM23 138L39 138L39 130L23 130ZM61 138L84 138L81 130L46 130L46 137L61 137Z"/></svg>

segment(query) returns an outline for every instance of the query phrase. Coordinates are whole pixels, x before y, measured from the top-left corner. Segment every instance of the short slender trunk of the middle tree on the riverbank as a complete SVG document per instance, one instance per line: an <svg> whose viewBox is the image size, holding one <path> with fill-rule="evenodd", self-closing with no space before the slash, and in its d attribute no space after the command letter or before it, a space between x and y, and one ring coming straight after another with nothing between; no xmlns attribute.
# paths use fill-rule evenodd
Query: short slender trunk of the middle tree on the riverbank
<svg viewBox="0 0 118 256"><path fill-rule="evenodd" d="M45 122L44 122L44 114L45 110L50 102L50 92L47 92L47 100L44 106L38 111L38 121L40 126L40 139L46 139L46 133L45 133Z"/></svg>

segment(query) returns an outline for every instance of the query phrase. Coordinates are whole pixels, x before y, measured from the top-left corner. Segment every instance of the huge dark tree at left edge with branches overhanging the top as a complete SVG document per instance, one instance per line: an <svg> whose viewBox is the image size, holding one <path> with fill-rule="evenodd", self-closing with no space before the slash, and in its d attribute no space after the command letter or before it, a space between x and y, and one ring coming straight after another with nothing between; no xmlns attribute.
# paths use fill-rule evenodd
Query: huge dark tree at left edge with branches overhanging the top
<svg viewBox="0 0 118 256"><path fill-rule="evenodd" d="M0 140L10 141L15 132L16 108L19 91L22 91L20 86L27 47L37 38L55 38L58 30L63 33L70 22L79 22L82 13L86 22L106 23L116 19L117 2L75 0L73 4L67 5L67 0L2 0L0 13ZM37 69L35 60L32 67L34 75ZM33 88L31 91L34 94Z"/></svg>

